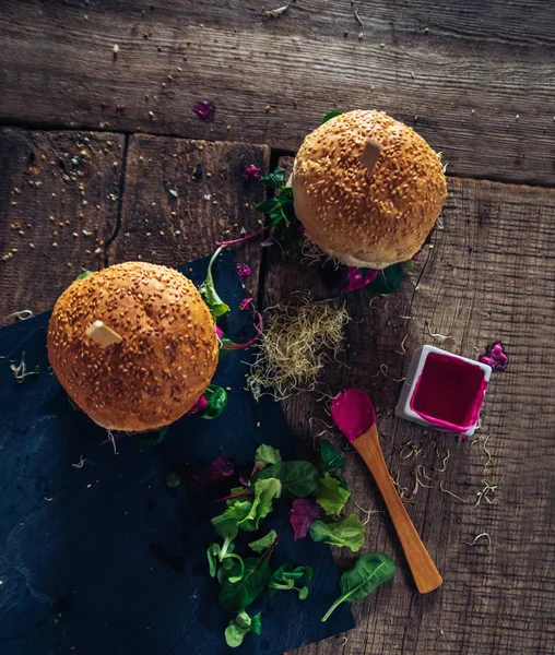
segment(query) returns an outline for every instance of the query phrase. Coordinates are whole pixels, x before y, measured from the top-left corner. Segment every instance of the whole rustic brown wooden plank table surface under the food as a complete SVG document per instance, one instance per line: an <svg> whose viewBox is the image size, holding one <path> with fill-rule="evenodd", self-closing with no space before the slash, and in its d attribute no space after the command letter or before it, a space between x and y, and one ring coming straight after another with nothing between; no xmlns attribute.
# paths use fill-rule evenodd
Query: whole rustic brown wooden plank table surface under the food
<svg viewBox="0 0 555 655"><path fill-rule="evenodd" d="M366 546L392 555L399 574L354 607L356 630L299 653L553 653L555 5L298 0L263 14L275 7L2 2L0 315L48 309L82 269L174 265L255 229L263 190L240 171L268 170L333 107L401 118L449 163L441 225L398 294L340 297L350 345L323 384L371 393L401 486L412 490L417 464L432 472L435 487L409 512L445 584L420 596L387 516L373 513ZM203 99L213 121L192 111ZM262 305L296 289L329 297L291 254L251 243L237 258ZM510 368L492 379L481 442L392 415L405 350L430 343L475 358L497 340ZM322 403L303 395L285 408L309 452L328 431ZM361 508L382 511L354 454L346 476ZM484 479L496 502L475 507ZM486 537L469 545L481 533L489 549Z"/></svg>

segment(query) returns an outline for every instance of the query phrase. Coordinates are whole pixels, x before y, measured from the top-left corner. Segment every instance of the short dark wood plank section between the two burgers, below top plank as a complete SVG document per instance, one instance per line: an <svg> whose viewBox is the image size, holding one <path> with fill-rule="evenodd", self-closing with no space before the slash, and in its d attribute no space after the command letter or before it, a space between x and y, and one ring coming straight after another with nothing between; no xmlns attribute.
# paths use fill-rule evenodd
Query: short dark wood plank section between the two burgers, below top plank
<svg viewBox="0 0 555 655"><path fill-rule="evenodd" d="M268 171L269 162L263 145L131 136L121 225L109 263L142 259L178 265L212 253L219 240L256 231L263 216L253 207L265 189L240 174L251 164ZM250 265L245 284L256 294L260 247L247 242L236 254Z"/></svg>

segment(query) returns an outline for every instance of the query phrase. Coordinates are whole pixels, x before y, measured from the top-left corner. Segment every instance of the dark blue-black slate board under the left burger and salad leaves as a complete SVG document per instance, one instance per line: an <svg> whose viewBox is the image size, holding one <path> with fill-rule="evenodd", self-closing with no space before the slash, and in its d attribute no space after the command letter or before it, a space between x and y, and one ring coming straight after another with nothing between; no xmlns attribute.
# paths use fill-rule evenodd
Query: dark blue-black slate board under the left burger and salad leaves
<svg viewBox="0 0 555 655"><path fill-rule="evenodd" d="M251 317L237 310L244 291L232 257L215 269L234 308L226 333L240 341ZM206 260L181 270L200 284ZM0 355L8 356L0 360L0 653L229 653L223 632L231 615L217 606L205 563L214 540L209 516L221 508L200 507L198 491L169 489L164 476L176 464L194 472L222 453L248 465L262 442L293 458L280 407L257 405L244 391L249 355L232 353L214 380L233 390L219 419L185 417L154 449L121 439L115 456L110 444L97 445L105 432L71 407L50 373L47 323L42 314L0 331ZM23 352L40 373L17 384L9 362ZM88 462L75 468L81 454ZM286 511L274 527L284 517ZM320 622L339 591L328 547L294 543L287 529L272 565L283 561L314 568L310 596L302 603L290 593L271 600L264 594L251 607L262 612L262 635L248 635L237 653L280 654L354 627L346 605Z"/></svg>

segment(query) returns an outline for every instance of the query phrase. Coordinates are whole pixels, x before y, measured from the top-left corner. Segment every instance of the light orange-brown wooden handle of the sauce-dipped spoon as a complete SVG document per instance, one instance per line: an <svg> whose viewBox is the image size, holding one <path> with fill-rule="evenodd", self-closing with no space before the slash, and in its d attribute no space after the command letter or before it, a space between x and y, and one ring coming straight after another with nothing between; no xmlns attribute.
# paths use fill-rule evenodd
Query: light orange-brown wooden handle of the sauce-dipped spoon
<svg viewBox="0 0 555 655"><path fill-rule="evenodd" d="M416 588L421 594L432 592L444 581L393 486L386 460L383 460L383 453L381 452L376 424L367 432L358 437L358 439L355 439L353 445L368 466L386 501L391 521L397 529L399 540L401 541L406 561L416 583Z"/></svg>

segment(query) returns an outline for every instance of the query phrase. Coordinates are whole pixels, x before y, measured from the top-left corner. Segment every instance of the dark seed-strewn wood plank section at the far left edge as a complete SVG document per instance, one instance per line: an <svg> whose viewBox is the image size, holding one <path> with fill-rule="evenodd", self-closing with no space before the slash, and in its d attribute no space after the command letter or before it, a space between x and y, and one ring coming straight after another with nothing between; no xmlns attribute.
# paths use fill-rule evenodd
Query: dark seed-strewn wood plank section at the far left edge
<svg viewBox="0 0 555 655"><path fill-rule="evenodd" d="M0 130L0 319L49 309L82 270L104 266L125 139Z"/></svg>

